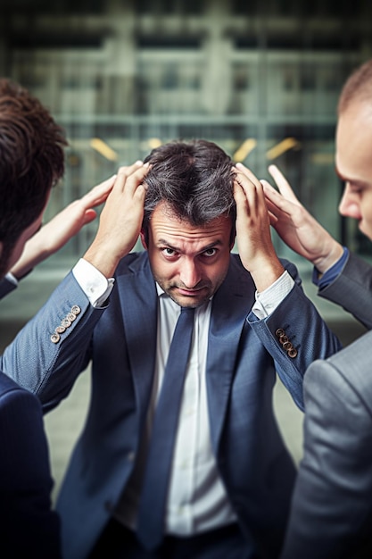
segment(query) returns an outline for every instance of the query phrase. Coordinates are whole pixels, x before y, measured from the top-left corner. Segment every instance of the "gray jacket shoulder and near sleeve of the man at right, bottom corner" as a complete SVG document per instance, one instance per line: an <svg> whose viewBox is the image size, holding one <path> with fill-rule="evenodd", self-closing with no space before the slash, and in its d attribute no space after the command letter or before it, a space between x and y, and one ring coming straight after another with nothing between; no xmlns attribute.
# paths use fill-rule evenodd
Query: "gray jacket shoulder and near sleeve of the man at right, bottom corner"
<svg viewBox="0 0 372 559"><path fill-rule="evenodd" d="M372 333L304 380L304 455L281 559L372 556Z"/></svg>

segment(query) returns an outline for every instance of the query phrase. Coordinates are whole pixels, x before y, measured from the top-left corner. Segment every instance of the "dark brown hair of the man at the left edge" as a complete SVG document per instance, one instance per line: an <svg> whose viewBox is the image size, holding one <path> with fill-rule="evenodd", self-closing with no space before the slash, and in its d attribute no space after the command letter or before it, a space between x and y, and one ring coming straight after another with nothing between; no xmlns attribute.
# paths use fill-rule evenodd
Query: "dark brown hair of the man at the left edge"
<svg viewBox="0 0 372 559"><path fill-rule="evenodd" d="M0 274L64 173L64 132L29 91L0 79Z"/></svg>

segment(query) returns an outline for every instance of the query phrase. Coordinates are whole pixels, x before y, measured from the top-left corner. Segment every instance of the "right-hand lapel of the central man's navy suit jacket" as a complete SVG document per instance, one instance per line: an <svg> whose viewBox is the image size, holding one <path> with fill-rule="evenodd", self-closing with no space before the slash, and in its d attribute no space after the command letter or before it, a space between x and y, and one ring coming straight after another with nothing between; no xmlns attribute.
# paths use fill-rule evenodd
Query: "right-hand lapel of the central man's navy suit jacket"
<svg viewBox="0 0 372 559"><path fill-rule="evenodd" d="M250 276L233 261L227 279L213 297L208 338L207 393L211 441L218 447L236 368L236 352L245 318L251 311L255 288Z"/></svg>

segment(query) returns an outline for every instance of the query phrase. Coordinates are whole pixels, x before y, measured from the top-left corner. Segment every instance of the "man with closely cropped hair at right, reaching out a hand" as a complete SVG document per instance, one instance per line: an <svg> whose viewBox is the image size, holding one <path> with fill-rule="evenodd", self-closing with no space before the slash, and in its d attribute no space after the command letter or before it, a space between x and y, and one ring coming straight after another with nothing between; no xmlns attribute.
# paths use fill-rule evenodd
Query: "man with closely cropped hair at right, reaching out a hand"
<svg viewBox="0 0 372 559"><path fill-rule="evenodd" d="M339 205L372 240L372 60L346 81L338 104ZM264 185L272 223L314 264L318 293L372 328L372 268L310 216L277 168ZM304 381L304 456L283 559L372 556L372 333L316 361Z"/></svg>

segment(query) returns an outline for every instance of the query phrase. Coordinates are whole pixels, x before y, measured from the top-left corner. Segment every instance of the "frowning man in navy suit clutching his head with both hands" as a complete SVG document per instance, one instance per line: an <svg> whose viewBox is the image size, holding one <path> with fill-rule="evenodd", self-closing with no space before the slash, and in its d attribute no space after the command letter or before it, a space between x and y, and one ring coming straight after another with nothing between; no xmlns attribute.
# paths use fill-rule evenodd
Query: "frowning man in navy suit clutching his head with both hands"
<svg viewBox="0 0 372 559"><path fill-rule="evenodd" d="M130 252L139 235L145 251ZM170 470L157 477L161 455L153 471L153 489L167 488L162 513L156 499L146 509L143 480L181 307L194 309L194 334L167 426ZM274 384L278 374L302 407L303 372L339 349L293 264L277 257L260 181L243 165L198 140L120 169L84 258L2 359L45 411L92 363L86 425L57 502L65 559L277 557L295 468ZM158 517L152 546L144 537Z"/></svg>

